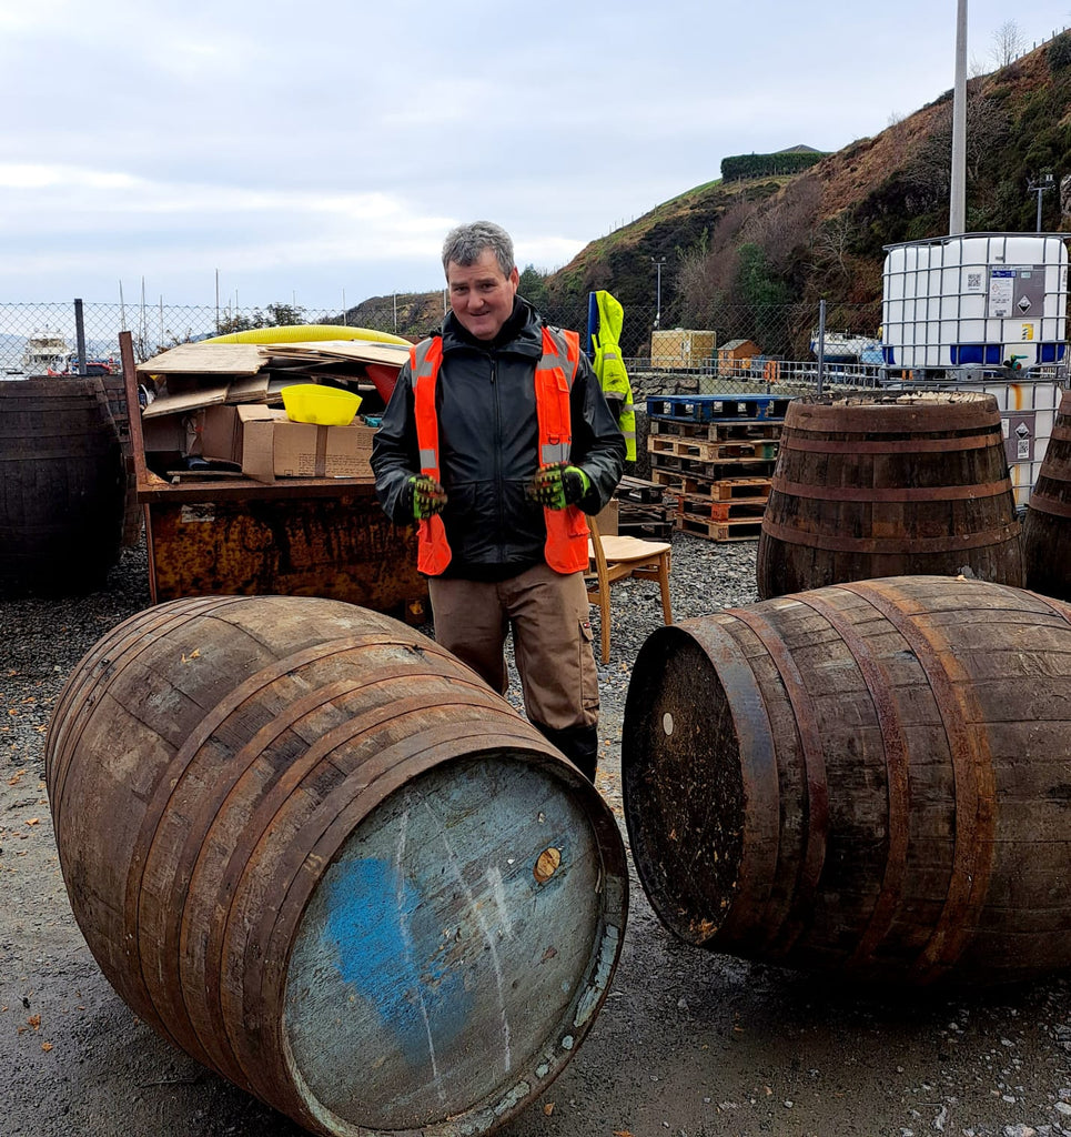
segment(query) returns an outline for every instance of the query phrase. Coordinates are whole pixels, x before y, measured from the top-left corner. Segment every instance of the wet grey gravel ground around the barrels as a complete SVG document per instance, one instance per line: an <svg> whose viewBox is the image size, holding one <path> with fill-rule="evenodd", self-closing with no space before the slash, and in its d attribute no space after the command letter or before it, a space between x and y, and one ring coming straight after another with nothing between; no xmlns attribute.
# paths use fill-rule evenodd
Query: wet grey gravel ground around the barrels
<svg viewBox="0 0 1071 1137"><path fill-rule="evenodd" d="M754 542L674 538L678 619L755 599ZM624 595L626 594L628 598ZM601 669L599 788L621 818L630 664L657 587L615 586ZM144 550L107 589L0 601L0 1135L298 1137L296 1127L140 1023L103 980L67 902L43 782L51 707L82 654L148 606ZM634 873L614 988L584 1046L506 1137L1071 1134L1071 993L882 997L688 947Z"/></svg>

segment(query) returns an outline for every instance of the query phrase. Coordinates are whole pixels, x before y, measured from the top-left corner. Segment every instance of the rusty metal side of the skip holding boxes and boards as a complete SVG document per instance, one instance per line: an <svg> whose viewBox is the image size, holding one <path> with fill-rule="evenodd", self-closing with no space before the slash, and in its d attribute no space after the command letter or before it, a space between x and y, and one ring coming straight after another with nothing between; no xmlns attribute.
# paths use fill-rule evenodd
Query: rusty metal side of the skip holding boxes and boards
<svg viewBox="0 0 1071 1137"><path fill-rule="evenodd" d="M153 601L322 596L393 612L427 596L415 530L391 524L372 485L334 497L169 497L148 503Z"/></svg>

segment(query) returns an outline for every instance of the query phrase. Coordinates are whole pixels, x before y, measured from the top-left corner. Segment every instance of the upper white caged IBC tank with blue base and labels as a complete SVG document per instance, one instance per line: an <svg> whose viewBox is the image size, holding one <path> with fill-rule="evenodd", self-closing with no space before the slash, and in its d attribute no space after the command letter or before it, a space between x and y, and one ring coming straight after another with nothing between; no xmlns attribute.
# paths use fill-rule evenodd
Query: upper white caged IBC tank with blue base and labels
<svg viewBox="0 0 1071 1137"><path fill-rule="evenodd" d="M1064 364L1065 239L966 233L886 246L886 366L931 372L1011 363L1026 371Z"/></svg>

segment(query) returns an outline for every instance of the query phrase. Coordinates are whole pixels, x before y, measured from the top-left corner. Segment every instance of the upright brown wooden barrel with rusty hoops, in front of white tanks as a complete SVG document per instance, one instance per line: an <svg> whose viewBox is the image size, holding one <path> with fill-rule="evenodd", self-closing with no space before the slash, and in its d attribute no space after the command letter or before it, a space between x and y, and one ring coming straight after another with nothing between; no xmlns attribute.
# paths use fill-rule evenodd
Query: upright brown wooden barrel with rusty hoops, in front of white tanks
<svg viewBox="0 0 1071 1137"><path fill-rule="evenodd" d="M1019 536L991 395L794 399L758 539L758 596L964 570L1021 587Z"/></svg>

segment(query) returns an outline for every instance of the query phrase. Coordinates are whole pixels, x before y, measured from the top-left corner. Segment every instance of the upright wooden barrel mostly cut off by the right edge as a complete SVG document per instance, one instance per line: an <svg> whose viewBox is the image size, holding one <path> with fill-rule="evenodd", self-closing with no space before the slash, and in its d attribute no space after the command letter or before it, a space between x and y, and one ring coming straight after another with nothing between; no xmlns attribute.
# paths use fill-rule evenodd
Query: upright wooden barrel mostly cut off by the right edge
<svg viewBox="0 0 1071 1137"><path fill-rule="evenodd" d="M1022 526L1027 588L1071 600L1071 391L1064 392Z"/></svg>

